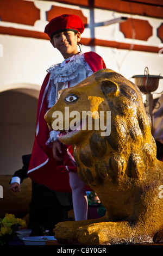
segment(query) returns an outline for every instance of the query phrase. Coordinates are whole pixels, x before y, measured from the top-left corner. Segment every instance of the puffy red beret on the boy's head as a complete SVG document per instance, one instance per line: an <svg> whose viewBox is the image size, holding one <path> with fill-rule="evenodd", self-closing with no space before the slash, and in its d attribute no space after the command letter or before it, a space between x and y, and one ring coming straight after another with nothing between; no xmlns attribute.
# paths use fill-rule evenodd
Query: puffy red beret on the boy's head
<svg viewBox="0 0 163 256"><path fill-rule="evenodd" d="M63 14L49 21L44 32L52 39L53 35L63 31L74 31L82 34L84 31L82 19L77 15Z"/></svg>

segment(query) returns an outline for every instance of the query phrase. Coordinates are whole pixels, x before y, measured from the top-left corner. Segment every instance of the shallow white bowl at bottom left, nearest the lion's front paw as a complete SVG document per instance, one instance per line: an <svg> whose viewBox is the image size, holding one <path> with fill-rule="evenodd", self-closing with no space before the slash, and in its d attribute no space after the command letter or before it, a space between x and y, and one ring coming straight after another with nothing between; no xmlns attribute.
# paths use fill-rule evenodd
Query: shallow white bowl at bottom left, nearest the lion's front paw
<svg viewBox="0 0 163 256"><path fill-rule="evenodd" d="M47 240L56 240L54 236L29 236L22 237L25 245L45 245Z"/></svg>

